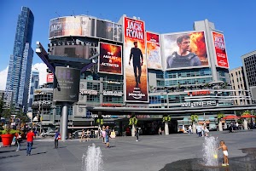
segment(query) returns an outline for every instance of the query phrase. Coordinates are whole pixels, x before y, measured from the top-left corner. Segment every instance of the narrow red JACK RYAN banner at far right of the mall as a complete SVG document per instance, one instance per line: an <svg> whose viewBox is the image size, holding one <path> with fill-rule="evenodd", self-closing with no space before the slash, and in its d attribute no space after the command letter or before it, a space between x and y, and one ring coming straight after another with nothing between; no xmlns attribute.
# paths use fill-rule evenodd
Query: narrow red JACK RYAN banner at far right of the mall
<svg viewBox="0 0 256 171"><path fill-rule="evenodd" d="M229 68L229 61L224 43L224 35L222 33L212 31L212 37L216 54L217 66Z"/></svg>

